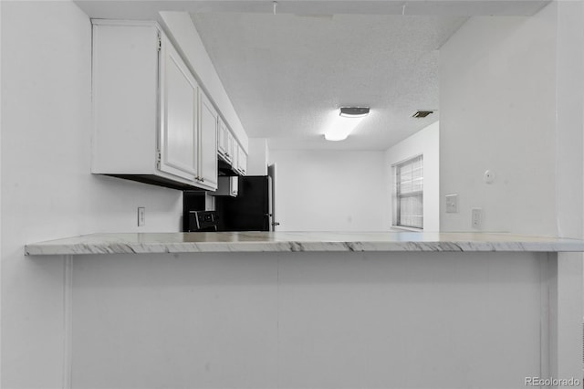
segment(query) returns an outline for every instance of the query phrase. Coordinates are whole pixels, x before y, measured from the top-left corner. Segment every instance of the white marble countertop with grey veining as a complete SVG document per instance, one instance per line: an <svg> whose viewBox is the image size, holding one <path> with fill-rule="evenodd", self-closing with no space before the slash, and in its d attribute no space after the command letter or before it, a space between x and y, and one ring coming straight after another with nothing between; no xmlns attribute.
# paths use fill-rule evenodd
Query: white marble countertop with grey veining
<svg viewBox="0 0 584 389"><path fill-rule="evenodd" d="M26 245L28 256L274 251L581 252L584 240L504 233L202 232L91 234Z"/></svg>

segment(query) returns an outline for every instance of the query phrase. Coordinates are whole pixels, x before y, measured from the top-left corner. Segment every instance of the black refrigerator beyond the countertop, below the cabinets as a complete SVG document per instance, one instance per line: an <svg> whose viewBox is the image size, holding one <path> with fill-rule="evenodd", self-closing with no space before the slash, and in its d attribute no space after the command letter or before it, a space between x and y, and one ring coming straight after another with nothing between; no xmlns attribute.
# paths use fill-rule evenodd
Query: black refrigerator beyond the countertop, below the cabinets
<svg viewBox="0 0 584 389"><path fill-rule="evenodd" d="M237 197L215 197L218 231L272 231L272 177L238 177Z"/></svg>

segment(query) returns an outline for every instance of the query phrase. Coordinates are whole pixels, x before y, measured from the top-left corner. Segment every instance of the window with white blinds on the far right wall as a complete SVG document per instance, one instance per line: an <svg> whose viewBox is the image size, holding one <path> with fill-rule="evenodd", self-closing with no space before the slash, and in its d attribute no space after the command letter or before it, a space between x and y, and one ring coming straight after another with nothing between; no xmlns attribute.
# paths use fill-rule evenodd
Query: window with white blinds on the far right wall
<svg viewBox="0 0 584 389"><path fill-rule="evenodd" d="M423 228L423 156L393 165L393 226Z"/></svg>

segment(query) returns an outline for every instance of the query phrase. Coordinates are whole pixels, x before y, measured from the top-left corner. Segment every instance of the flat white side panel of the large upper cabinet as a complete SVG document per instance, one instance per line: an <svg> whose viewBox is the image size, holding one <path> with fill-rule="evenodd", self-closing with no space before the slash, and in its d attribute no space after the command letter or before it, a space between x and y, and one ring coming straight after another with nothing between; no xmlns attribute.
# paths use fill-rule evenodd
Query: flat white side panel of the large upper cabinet
<svg viewBox="0 0 584 389"><path fill-rule="evenodd" d="M91 172L154 173L159 150L160 31L153 22L91 22Z"/></svg>

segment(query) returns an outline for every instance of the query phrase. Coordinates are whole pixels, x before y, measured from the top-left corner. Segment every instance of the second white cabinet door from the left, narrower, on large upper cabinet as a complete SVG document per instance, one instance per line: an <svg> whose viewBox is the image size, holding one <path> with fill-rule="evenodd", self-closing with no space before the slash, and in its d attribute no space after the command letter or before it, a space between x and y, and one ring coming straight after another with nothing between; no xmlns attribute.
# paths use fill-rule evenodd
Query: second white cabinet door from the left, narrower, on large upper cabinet
<svg viewBox="0 0 584 389"><path fill-rule="evenodd" d="M203 186L217 188L217 111L203 91L200 93L199 180Z"/></svg>

